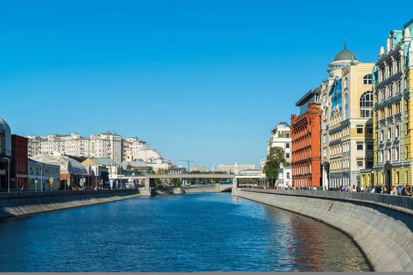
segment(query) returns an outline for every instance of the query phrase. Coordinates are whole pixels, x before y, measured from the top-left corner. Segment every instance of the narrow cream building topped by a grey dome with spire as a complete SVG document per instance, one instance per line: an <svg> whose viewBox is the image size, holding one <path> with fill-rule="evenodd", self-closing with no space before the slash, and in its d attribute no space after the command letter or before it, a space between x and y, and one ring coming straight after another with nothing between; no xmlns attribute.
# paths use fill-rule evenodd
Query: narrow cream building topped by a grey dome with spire
<svg viewBox="0 0 413 275"><path fill-rule="evenodd" d="M342 110L341 104L341 76L343 75L343 69L350 65L357 65L360 61L357 60L356 55L347 50L346 41L344 41L344 49L336 54L333 61L328 64L328 78L324 78L321 85L321 165L322 165L322 182L324 186L331 187L335 184L330 184L330 153L335 153L330 150L330 142L332 138L337 137L339 134L330 134L330 125L336 122ZM332 89L337 91L337 94L332 94ZM334 104L334 106L333 106ZM335 121L331 120L332 114L336 115ZM340 142L339 139L334 140L335 143ZM332 146L335 146L335 143ZM336 167L335 167L336 168Z"/></svg>

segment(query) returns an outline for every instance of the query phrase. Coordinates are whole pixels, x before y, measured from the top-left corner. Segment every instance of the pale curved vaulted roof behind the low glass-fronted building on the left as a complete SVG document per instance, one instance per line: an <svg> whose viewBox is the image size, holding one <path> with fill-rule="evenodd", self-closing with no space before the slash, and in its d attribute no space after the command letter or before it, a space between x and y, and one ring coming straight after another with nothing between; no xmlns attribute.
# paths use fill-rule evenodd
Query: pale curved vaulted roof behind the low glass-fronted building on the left
<svg viewBox="0 0 413 275"><path fill-rule="evenodd" d="M32 157L39 162L59 165L61 173L88 175L86 168L78 161L61 155L35 155Z"/></svg>

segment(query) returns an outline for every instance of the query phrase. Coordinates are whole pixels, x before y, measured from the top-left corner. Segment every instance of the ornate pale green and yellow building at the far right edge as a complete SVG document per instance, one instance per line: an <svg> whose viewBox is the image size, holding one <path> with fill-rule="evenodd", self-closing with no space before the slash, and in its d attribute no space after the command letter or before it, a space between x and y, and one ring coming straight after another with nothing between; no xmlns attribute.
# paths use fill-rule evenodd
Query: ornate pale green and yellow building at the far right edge
<svg viewBox="0 0 413 275"><path fill-rule="evenodd" d="M372 69L374 166L362 185L412 184L413 19L392 30ZM373 173L371 173L373 172Z"/></svg>

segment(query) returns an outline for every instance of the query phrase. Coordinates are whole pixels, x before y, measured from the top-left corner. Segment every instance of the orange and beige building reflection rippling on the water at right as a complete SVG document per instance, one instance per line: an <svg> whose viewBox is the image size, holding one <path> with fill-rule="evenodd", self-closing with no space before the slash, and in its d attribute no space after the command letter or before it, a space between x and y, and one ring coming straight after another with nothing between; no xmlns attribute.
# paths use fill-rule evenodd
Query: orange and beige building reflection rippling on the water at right
<svg viewBox="0 0 413 275"><path fill-rule="evenodd" d="M368 272L366 260L359 249L335 228L271 206L268 219L274 221L268 250L277 254L274 266L285 270L306 272ZM280 230L282 239L279 239ZM278 243L278 248L274 244ZM279 251L279 248L284 248ZM273 270L275 272L280 270Z"/></svg>

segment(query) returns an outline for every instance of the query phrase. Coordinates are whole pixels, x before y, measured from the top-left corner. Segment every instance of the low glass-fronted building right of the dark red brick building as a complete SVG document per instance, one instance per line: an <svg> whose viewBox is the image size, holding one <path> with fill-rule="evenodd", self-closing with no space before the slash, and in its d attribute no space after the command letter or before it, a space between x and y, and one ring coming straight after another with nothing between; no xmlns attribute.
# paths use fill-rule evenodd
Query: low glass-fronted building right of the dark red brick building
<svg viewBox="0 0 413 275"><path fill-rule="evenodd" d="M60 165L39 162L28 157L28 190L59 190L60 168ZM50 184L50 177L53 178L53 184Z"/></svg>

